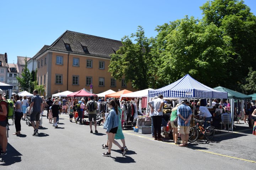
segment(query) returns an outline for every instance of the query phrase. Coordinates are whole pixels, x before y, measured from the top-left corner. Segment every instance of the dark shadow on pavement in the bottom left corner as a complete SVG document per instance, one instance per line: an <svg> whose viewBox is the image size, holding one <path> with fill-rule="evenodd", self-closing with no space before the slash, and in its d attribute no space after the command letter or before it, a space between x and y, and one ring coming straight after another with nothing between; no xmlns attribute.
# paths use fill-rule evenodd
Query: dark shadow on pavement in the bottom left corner
<svg viewBox="0 0 256 170"><path fill-rule="evenodd" d="M7 145L7 153L7 155L0 157L0 166L9 166L16 162L21 162L20 156L22 156L22 154L18 152L14 147L12 147L9 143Z"/></svg>

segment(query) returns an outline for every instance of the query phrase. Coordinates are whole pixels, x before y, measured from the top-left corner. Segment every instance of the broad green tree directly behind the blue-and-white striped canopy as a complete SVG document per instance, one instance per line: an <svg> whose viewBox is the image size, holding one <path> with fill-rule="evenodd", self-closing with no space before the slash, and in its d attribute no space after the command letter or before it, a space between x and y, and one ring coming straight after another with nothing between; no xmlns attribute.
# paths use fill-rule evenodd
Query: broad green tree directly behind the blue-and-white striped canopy
<svg viewBox="0 0 256 170"><path fill-rule="evenodd" d="M206 26L202 21L186 16L158 26L156 30L161 58L157 74L159 85L170 84L186 74L208 86L222 83L232 48L231 39L220 37L221 30L217 26ZM218 77L218 74L222 76Z"/></svg>

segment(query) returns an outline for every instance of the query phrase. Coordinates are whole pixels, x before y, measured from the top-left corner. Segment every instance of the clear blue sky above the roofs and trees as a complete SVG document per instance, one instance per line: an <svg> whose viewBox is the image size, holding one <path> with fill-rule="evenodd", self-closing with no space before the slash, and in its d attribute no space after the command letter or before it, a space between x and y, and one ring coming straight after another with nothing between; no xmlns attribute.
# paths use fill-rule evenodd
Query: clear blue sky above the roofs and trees
<svg viewBox="0 0 256 170"><path fill-rule="evenodd" d="M256 0L244 0L256 14ZM33 57L65 30L121 40L137 26L148 37L155 27L185 15L202 18L206 0L10 0L0 2L0 53L8 63L17 56Z"/></svg>

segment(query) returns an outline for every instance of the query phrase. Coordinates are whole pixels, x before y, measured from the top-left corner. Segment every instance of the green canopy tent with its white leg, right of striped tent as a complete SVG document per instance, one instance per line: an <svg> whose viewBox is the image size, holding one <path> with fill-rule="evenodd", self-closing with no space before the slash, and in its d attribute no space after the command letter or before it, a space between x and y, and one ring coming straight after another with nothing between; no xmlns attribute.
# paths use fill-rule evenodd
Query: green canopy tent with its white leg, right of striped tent
<svg viewBox="0 0 256 170"><path fill-rule="evenodd" d="M222 86L218 86L218 87L215 87L213 88L215 90L219 90L219 91L225 91L225 92L228 92L228 99L230 99L230 103L231 103L231 108L230 108L230 111L231 111L231 119L232 119L232 132L233 132L233 124L234 124L234 99L238 99L238 100L252 100L252 97L251 96L248 96L248 95L245 95L245 94L242 94L242 93L239 93L237 91L234 91L234 90L230 90L230 89L227 89L225 87L222 87Z"/></svg>

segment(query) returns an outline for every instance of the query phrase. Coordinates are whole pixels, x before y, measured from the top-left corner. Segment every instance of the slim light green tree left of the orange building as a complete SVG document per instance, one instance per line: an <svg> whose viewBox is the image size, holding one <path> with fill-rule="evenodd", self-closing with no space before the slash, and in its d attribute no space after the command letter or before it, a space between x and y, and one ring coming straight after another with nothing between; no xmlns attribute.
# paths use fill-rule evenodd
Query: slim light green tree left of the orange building
<svg viewBox="0 0 256 170"><path fill-rule="evenodd" d="M25 58L25 68L21 73L21 77L16 77L18 80L18 84L20 86L20 90L29 91L30 89L30 71L27 68L27 57Z"/></svg>

